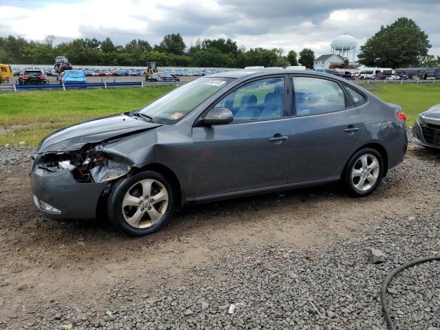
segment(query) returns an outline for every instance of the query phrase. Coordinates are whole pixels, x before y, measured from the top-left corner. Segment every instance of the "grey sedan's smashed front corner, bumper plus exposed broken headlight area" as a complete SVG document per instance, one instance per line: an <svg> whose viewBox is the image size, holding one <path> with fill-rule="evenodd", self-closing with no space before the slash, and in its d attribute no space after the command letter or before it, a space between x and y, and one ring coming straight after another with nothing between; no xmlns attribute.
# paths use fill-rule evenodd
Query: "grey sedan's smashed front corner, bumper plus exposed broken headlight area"
<svg viewBox="0 0 440 330"><path fill-rule="evenodd" d="M133 166L122 155L106 153L102 145L37 154L30 173L35 205L53 219L94 219L111 181Z"/></svg>

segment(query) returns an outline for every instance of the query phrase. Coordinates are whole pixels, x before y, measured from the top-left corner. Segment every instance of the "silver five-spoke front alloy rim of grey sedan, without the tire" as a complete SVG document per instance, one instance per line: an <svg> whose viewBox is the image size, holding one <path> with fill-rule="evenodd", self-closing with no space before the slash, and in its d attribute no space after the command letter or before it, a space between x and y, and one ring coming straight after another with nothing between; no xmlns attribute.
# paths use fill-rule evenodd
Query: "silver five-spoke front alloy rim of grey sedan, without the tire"
<svg viewBox="0 0 440 330"><path fill-rule="evenodd" d="M143 179L127 190L122 200L122 215L129 225L147 228L164 217L168 191L156 179Z"/></svg>

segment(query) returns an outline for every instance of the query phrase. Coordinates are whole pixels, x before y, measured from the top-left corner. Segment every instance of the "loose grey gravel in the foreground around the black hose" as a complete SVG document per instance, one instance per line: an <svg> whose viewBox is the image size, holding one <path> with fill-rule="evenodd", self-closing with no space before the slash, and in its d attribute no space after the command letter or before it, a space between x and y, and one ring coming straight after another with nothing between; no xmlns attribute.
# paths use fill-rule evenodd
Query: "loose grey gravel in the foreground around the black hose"
<svg viewBox="0 0 440 330"><path fill-rule="evenodd" d="M230 254L189 270L177 287L163 281L157 289L140 289L150 276L166 277L155 272L122 280L107 289L120 307L78 310L60 304L54 320L39 327L386 329L379 298L384 277L403 263L439 253L439 223L439 213L384 219L358 239L333 238L325 251L272 243L230 246ZM386 262L371 264L367 247L380 248ZM398 329L440 327L439 276L440 262L432 261L405 270L391 283L389 305Z"/></svg>

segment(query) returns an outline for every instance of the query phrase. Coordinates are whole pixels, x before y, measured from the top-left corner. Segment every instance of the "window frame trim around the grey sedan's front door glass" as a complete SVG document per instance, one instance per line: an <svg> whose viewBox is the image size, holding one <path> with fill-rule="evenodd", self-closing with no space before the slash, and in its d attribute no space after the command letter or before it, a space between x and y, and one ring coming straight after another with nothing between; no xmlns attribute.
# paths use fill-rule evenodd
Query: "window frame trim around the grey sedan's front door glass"
<svg viewBox="0 0 440 330"><path fill-rule="evenodd" d="M259 76L259 77L254 77L254 78L250 78L248 80L245 80L241 83L239 83L239 85L236 85L235 87L233 87L232 89L229 89L228 91L225 91L225 93L221 94L221 96L219 96L217 99L214 100L214 102L212 102L208 107L206 107L206 109L197 117L197 119L195 120L195 122L192 124L192 126L197 126L197 122L199 122L199 120L201 118L203 118L206 113L208 113L208 111L210 111L211 109L214 108L214 106L219 103L221 100L223 100L223 98L228 97L230 94L234 93L237 89L248 85L249 83L254 83L255 81L258 80L265 80L265 79L270 79L270 78L283 78L284 79L284 102L283 102L283 116L280 118L269 118L269 119L261 119L261 120L242 120L239 122L231 122L228 125L232 125L232 124L245 124L248 122L266 122L269 120L282 120L285 118L289 118L291 117L291 111L289 111L290 108L290 100L289 100L289 75L287 74L270 74L267 76Z"/></svg>

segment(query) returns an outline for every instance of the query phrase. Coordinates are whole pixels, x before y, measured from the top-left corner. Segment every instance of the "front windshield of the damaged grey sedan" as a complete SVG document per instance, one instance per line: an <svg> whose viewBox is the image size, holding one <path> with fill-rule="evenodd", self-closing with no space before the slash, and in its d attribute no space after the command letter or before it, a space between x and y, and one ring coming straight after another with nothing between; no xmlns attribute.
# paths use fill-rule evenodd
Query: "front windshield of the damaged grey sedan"
<svg viewBox="0 0 440 330"><path fill-rule="evenodd" d="M153 118L154 122L174 124L216 91L230 83L230 78L199 78L173 89L140 113Z"/></svg>

